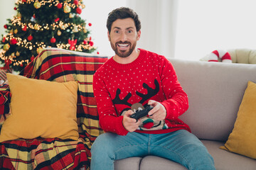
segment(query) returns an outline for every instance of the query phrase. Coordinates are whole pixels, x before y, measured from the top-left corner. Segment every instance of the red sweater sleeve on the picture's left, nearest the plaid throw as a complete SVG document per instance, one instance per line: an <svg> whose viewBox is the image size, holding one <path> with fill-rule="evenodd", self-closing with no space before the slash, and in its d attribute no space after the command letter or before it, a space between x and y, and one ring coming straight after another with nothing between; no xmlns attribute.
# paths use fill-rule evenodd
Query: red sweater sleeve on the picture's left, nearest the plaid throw
<svg viewBox="0 0 256 170"><path fill-rule="evenodd" d="M122 125L123 116L117 116L107 87L100 77L100 72L96 72L93 76L93 92L97 102L100 127L105 132L127 135L128 131Z"/></svg>

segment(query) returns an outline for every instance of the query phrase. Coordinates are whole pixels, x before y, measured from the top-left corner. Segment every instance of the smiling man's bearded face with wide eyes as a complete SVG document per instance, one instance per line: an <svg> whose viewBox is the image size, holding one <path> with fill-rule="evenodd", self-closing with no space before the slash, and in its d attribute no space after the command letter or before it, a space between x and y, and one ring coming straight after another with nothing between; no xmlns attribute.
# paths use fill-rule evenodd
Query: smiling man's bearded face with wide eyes
<svg viewBox="0 0 256 170"><path fill-rule="evenodd" d="M125 18L114 21L107 35L115 54L119 57L128 57L134 51L141 32L137 32L132 18Z"/></svg>

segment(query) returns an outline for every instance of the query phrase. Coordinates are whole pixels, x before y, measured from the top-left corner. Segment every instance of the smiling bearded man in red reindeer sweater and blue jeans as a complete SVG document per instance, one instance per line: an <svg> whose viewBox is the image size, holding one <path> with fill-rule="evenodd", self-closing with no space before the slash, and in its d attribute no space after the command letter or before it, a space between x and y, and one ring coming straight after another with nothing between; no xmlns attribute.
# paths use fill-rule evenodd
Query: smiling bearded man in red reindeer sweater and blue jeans
<svg viewBox="0 0 256 170"><path fill-rule="evenodd" d="M117 8L107 19L115 55L97 70L93 89L100 127L92 145L91 169L114 169L114 160L156 155L187 169L215 169L206 147L178 119L188 109L174 67L164 56L137 49L141 36L137 13ZM153 106L138 121L130 116Z"/></svg>

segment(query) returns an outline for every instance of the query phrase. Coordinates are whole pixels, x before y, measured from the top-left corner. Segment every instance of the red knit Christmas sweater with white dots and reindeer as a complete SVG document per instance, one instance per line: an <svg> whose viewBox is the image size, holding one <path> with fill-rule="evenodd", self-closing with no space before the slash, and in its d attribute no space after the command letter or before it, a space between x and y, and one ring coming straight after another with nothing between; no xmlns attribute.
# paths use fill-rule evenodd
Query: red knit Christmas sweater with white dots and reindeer
<svg viewBox="0 0 256 170"><path fill-rule="evenodd" d="M119 64L113 57L97 69L93 90L97 101L100 127L105 132L127 135L122 114L147 106L149 99L166 108L166 119L155 121L142 118L136 132L166 133L185 129L188 125L178 119L188 109L188 96L181 88L176 72L166 57L139 49L139 57L129 64Z"/></svg>

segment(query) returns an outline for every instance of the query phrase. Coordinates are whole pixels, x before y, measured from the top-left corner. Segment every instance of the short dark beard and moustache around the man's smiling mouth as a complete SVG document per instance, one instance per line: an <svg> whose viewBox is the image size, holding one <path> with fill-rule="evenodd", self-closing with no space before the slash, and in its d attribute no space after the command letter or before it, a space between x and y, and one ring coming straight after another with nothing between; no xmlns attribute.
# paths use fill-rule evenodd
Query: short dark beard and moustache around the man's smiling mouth
<svg viewBox="0 0 256 170"><path fill-rule="evenodd" d="M116 55L118 55L119 57L124 58L124 57L129 57L129 55L132 54L132 52L134 51L134 49L136 47L137 42L134 42L134 44L132 44L131 42L128 42L128 41L125 41L125 42L119 41L114 44L110 41L110 44L111 44L112 49L114 50L114 53ZM119 48L117 47L118 46L117 44L129 44L129 49L128 50L119 50Z"/></svg>

